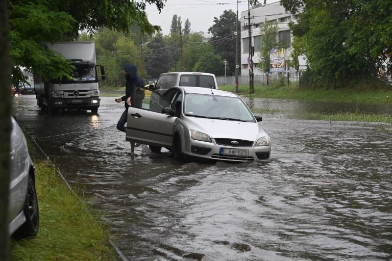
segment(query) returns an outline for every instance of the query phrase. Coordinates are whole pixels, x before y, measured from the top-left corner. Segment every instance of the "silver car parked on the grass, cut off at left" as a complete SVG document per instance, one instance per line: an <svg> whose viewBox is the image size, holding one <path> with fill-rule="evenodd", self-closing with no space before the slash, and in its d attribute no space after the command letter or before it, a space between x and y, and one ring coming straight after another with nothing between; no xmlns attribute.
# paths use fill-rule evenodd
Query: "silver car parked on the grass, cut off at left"
<svg viewBox="0 0 392 261"><path fill-rule="evenodd" d="M8 230L15 238L29 238L37 235L39 227L35 172L23 132L15 119L11 120Z"/></svg>

